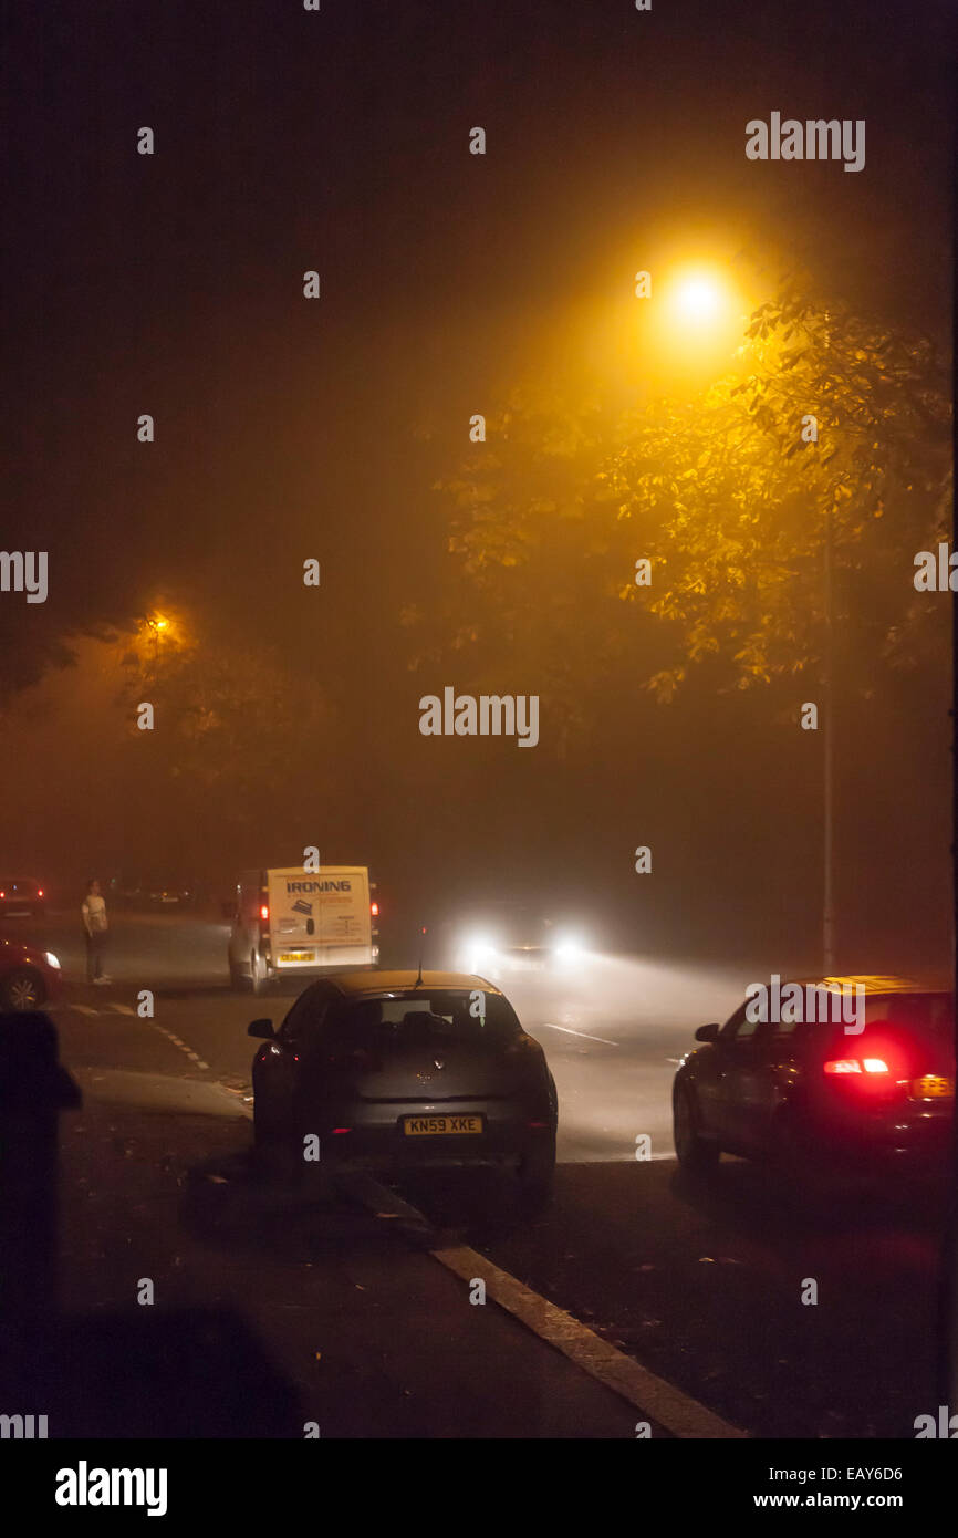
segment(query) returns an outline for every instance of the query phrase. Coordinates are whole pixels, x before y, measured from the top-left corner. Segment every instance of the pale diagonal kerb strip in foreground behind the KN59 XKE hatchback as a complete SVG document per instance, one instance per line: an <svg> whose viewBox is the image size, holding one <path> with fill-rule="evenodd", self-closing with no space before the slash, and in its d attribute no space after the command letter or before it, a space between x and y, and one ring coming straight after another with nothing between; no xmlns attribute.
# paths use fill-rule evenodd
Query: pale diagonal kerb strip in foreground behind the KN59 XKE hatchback
<svg viewBox="0 0 958 1538"><path fill-rule="evenodd" d="M407 1218L426 1230L429 1220L415 1207L392 1190L377 1186L374 1180L351 1186L360 1201L377 1217L395 1215ZM618 1347L601 1340L595 1330L580 1324L577 1318L558 1309L547 1298L540 1297L532 1287L511 1277L507 1270L494 1266L491 1260L466 1244L435 1246L427 1252L434 1260L471 1283L474 1277L481 1277L486 1283L486 1297L498 1303L500 1309L511 1313L520 1324L531 1329L534 1335L555 1350L567 1357L569 1361L587 1372L603 1387L618 1393L627 1404L635 1406L643 1415L655 1421L672 1436L687 1438L747 1438L738 1426L724 1421L720 1415L706 1409L698 1400L683 1393L666 1378L658 1378L634 1357L626 1357Z"/></svg>

